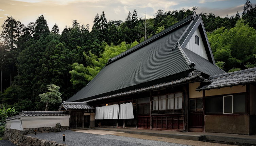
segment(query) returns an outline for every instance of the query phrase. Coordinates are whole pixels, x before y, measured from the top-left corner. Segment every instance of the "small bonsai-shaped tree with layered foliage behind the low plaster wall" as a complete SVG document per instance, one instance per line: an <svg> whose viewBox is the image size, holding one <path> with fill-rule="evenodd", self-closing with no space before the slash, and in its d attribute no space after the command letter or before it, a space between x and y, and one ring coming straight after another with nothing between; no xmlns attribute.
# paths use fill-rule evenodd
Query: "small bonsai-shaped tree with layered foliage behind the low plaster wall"
<svg viewBox="0 0 256 146"><path fill-rule="evenodd" d="M48 104L56 104L56 103L61 103L61 93L59 93L59 87L50 84L47 85L48 92L40 94L39 97L41 98L42 103L46 103L45 111L48 111Z"/></svg>

